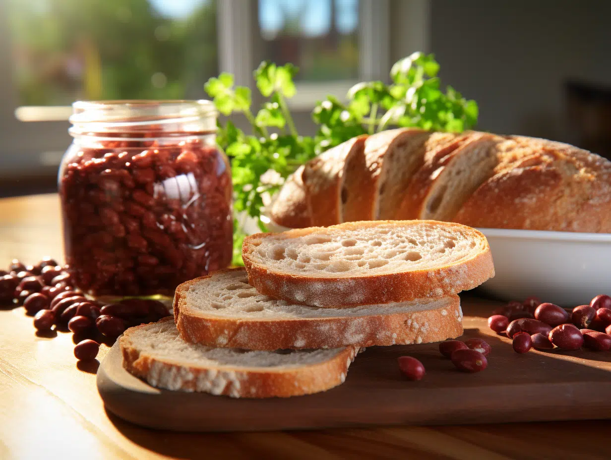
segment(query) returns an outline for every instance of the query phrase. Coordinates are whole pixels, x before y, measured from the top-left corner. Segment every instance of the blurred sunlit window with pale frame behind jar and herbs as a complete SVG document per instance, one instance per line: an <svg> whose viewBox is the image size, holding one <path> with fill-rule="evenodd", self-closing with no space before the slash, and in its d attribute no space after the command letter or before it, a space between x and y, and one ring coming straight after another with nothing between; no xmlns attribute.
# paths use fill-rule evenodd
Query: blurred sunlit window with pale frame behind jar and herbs
<svg viewBox="0 0 611 460"><path fill-rule="evenodd" d="M300 68L290 105L309 126L316 100L420 49L394 51L428 1L0 0L0 170L54 173L75 100L202 98L220 71L254 89L262 59Z"/></svg>

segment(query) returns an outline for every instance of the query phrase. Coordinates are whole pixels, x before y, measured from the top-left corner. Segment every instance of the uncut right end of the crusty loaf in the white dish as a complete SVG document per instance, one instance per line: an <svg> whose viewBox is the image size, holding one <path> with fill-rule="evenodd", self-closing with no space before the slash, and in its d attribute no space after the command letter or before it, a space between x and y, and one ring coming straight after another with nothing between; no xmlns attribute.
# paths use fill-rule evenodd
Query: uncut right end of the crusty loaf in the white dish
<svg viewBox="0 0 611 460"><path fill-rule="evenodd" d="M453 220L481 228L611 233L611 162L559 142L505 139L497 173Z"/></svg>

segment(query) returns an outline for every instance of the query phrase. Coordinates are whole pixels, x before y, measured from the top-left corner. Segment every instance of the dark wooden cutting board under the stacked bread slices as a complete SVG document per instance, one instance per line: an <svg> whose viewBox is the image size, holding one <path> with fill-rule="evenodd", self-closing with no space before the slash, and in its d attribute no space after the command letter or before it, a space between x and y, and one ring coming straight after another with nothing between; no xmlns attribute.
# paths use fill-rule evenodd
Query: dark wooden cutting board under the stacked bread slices
<svg viewBox="0 0 611 460"><path fill-rule="evenodd" d="M462 373L436 344L372 347L357 356L346 382L316 395L267 400L158 390L122 368L114 345L97 375L106 408L149 428L266 431L393 424L535 422L611 418L611 352L517 354L486 324L491 302L463 299L463 340L485 338L488 368ZM421 360L426 375L407 381L397 357Z"/></svg>

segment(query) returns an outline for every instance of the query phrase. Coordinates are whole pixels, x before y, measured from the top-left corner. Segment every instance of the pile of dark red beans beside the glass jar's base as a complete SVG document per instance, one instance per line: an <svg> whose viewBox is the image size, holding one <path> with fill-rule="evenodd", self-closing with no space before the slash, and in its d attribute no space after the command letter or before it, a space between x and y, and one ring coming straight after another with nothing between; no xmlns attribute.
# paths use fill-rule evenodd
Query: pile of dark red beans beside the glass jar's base
<svg viewBox="0 0 611 460"><path fill-rule="evenodd" d="M114 342L125 329L168 316L166 306L148 299L123 299L116 304L87 299L73 287L67 266L51 258L36 265L13 260L9 270L0 270L0 305L23 305L34 315L40 334L51 330L75 334L75 357L95 359L100 342Z"/></svg>

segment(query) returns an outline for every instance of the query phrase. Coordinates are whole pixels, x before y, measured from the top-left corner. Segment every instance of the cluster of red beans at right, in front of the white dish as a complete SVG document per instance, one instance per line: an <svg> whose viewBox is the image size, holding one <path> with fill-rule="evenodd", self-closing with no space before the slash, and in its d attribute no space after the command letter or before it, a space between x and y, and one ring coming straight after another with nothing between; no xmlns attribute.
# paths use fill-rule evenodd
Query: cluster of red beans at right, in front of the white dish
<svg viewBox="0 0 611 460"><path fill-rule="evenodd" d="M574 351L611 349L611 297L601 294L590 305L572 310L530 297L509 302L488 318L490 329L513 340L513 349L525 353L532 348Z"/></svg>

